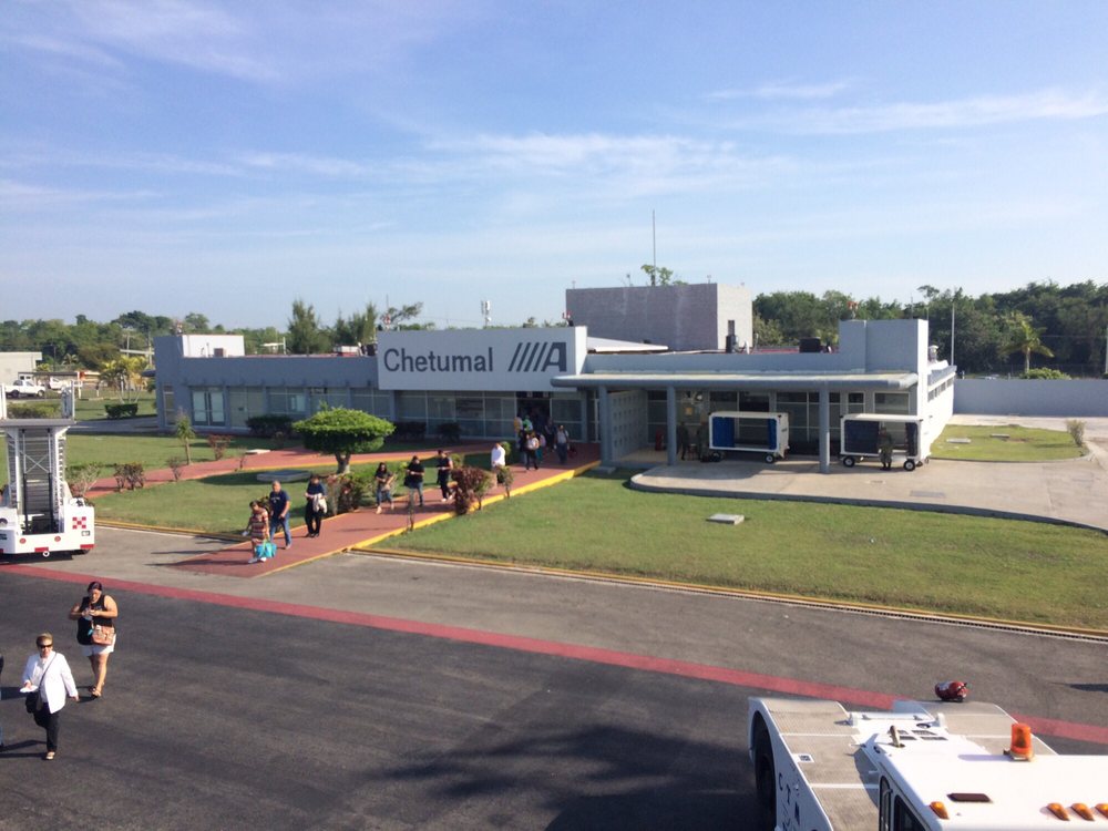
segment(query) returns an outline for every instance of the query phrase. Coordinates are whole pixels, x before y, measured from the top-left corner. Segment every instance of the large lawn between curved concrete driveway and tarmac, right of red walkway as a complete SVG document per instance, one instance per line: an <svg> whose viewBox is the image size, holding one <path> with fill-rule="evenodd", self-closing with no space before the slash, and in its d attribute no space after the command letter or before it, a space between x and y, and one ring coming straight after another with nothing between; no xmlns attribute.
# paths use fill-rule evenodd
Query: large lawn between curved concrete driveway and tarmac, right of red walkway
<svg viewBox="0 0 1108 831"><path fill-rule="evenodd" d="M740 513L738 526L707 522ZM652 494L588 475L390 546L1108 629L1108 536L892 509Z"/></svg>

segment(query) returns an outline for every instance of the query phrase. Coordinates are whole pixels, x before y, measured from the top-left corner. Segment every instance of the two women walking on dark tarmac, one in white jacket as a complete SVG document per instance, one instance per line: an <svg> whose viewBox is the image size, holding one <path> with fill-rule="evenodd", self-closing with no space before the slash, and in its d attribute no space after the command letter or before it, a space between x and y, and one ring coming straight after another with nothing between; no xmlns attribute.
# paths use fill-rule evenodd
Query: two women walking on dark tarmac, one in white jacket
<svg viewBox="0 0 1108 831"><path fill-rule="evenodd" d="M119 605L104 593L104 586L99 581L89 584L85 596L69 612L69 618L76 620L76 643L92 668L93 683L86 689L93 699L104 694L107 658L115 652L119 638ZM49 632L40 633L34 639L34 648L23 666L19 691L27 696L27 711L34 718L34 724L47 732L43 758L49 761L58 753L62 708L66 700L80 701L81 696L69 661L54 649L54 636ZM0 656L2 668L3 657ZM0 750L4 749L2 736L0 731Z"/></svg>

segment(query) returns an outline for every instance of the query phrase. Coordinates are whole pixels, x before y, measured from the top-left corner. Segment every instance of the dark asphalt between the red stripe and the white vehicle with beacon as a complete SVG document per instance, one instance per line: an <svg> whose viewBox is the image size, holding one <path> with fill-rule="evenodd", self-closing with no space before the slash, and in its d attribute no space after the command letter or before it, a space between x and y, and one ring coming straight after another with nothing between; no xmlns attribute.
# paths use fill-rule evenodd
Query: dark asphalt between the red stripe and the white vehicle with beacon
<svg viewBox="0 0 1108 831"><path fill-rule="evenodd" d="M10 661L50 627L86 683L63 619L80 587L0 570L0 591ZM750 827L748 690L113 596L105 695L65 708L53 762L4 674L0 828Z"/></svg>

